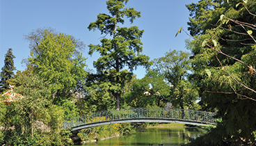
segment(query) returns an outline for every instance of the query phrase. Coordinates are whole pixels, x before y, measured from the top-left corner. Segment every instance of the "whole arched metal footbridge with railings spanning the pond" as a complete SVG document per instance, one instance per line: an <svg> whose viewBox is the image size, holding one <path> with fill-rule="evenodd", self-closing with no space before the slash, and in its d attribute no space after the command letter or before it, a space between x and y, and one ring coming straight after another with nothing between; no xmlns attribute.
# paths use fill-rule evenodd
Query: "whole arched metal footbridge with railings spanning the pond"
<svg viewBox="0 0 256 146"><path fill-rule="evenodd" d="M63 122L64 129L77 131L104 124L124 122L175 122L193 125L216 124L215 113L175 108L127 108L120 111L100 111Z"/></svg>

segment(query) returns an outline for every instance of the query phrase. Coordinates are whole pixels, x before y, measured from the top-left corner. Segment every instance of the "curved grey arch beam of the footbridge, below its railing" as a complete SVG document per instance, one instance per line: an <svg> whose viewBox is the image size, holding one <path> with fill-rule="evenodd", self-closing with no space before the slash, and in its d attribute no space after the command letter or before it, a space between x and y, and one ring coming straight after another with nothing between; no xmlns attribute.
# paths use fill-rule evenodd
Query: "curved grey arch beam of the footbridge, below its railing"
<svg viewBox="0 0 256 146"><path fill-rule="evenodd" d="M123 119L123 120L111 120L104 122L93 122L88 124L82 124L77 127L72 127L71 131L78 131L81 129L86 129L90 127L97 127L105 124L116 124L116 123L125 123L125 122L165 122L165 123L181 123L181 124L192 124L196 126L203 126L207 124L213 124L209 122L201 122L201 121L191 121L191 120L179 120L179 119L163 119L163 118L138 118L138 119Z"/></svg>

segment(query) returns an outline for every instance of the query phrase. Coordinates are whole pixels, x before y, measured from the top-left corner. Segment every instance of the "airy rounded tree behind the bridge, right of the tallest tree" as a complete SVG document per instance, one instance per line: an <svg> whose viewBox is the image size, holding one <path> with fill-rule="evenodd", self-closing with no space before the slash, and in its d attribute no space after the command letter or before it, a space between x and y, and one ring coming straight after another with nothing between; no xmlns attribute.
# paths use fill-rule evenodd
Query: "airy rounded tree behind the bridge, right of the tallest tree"
<svg viewBox="0 0 256 146"><path fill-rule="evenodd" d="M166 56L154 59L152 69L164 76L170 89L171 102L175 108L192 108L196 99L198 99L198 89L193 87L193 83L188 81L189 72L192 67L189 60L190 54L183 51L166 52Z"/></svg>

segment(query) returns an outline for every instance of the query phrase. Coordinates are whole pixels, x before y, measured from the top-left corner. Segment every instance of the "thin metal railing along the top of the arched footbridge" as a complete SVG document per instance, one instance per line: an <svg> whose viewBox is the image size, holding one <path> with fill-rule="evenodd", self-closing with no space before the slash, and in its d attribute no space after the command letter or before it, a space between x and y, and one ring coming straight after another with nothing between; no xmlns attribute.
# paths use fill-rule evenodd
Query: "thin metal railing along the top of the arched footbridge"
<svg viewBox="0 0 256 146"><path fill-rule="evenodd" d="M88 113L86 115L75 117L63 123L65 129L78 127L84 124L96 122L107 122L113 120L129 119L168 119L168 120L187 120L190 122L200 122L205 124L216 124L214 120L215 113L205 111L193 111L175 108L126 108L120 111L100 111Z"/></svg>

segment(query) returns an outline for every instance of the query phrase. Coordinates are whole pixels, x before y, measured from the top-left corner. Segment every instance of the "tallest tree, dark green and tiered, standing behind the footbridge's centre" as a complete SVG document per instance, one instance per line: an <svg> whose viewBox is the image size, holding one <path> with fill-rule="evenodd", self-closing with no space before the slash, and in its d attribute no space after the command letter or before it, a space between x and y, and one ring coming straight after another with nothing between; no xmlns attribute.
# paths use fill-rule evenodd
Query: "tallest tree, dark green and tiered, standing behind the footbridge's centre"
<svg viewBox="0 0 256 146"><path fill-rule="evenodd" d="M92 55L95 51L101 56L93 65L97 69L97 74L104 78L103 82L111 83L109 90L115 96L115 107L120 109L120 95L125 86L125 81L130 80L132 74L122 72L127 66L132 72L137 66L149 67L149 57L142 53L141 37L143 31L137 26L119 27L118 24L124 24L126 16L132 23L136 17L141 17L141 13L134 8L124 8L125 0L106 1L110 15L97 15L96 22L90 23L89 30L99 30L102 34L110 35L111 39L103 38L101 44L90 44L89 53ZM110 71L110 72L109 72ZM104 74L103 72L109 72ZM96 76L95 76L96 77Z"/></svg>

